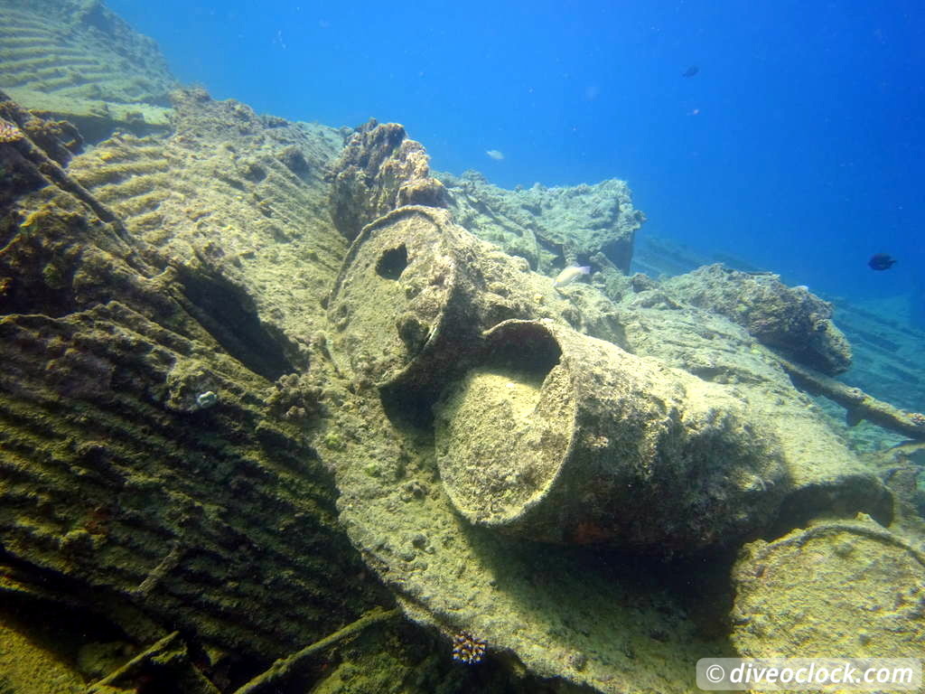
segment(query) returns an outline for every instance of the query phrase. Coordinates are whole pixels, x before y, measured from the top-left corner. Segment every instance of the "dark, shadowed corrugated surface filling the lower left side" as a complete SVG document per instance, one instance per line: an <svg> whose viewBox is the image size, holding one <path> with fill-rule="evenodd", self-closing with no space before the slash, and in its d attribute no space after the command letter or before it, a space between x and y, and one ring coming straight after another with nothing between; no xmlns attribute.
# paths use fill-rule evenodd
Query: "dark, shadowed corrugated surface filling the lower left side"
<svg viewBox="0 0 925 694"><path fill-rule="evenodd" d="M274 374L194 317L210 308L194 280L214 279L158 266L42 156L28 138L0 143L31 180L0 217L0 541L19 584L51 572L129 638L179 626L258 660L388 603ZM281 354L270 333L240 337Z"/></svg>

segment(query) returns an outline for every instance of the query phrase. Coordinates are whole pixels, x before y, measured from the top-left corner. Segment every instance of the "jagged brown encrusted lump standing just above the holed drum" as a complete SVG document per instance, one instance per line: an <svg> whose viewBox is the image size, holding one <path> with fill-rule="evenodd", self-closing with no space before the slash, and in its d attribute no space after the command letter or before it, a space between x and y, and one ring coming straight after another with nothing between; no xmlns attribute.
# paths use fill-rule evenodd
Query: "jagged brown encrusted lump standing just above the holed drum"
<svg viewBox="0 0 925 694"><path fill-rule="evenodd" d="M328 173L334 226L352 241L365 224L402 204L445 207L446 192L431 177L429 159L398 123L365 123Z"/></svg>

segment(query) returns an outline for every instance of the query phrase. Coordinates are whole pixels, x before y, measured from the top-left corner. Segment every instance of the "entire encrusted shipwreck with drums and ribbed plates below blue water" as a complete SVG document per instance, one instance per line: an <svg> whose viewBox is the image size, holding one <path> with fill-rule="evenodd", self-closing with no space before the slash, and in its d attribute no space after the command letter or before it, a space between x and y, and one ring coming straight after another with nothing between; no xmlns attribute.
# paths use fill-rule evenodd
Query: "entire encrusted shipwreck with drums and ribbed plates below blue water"
<svg viewBox="0 0 925 694"><path fill-rule="evenodd" d="M630 275L623 181L435 175L397 124L258 116L41 6L0 8L0 691L919 657L925 417L834 379L830 304ZM810 394L908 441L861 454Z"/></svg>

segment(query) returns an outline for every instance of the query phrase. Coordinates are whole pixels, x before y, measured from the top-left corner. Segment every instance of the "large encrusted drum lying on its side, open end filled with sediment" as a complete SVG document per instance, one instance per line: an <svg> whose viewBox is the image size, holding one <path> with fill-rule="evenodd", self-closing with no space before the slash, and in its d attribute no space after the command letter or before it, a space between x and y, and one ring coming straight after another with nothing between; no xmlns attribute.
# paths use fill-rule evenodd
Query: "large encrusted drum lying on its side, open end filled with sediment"
<svg viewBox="0 0 925 694"><path fill-rule="evenodd" d="M726 387L552 322L484 339L436 418L444 488L473 523L664 552L771 522L782 457Z"/></svg>

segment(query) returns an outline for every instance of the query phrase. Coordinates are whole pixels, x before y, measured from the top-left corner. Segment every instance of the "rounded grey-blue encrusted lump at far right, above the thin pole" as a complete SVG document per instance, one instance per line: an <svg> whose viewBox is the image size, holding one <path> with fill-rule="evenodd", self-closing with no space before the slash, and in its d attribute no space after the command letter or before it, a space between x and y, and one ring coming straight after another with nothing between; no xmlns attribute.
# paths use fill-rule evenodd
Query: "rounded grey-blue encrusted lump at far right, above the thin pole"
<svg viewBox="0 0 925 694"><path fill-rule="evenodd" d="M832 304L777 275L701 267L664 282L685 302L726 316L762 344L834 376L851 366L851 346L832 322Z"/></svg>

